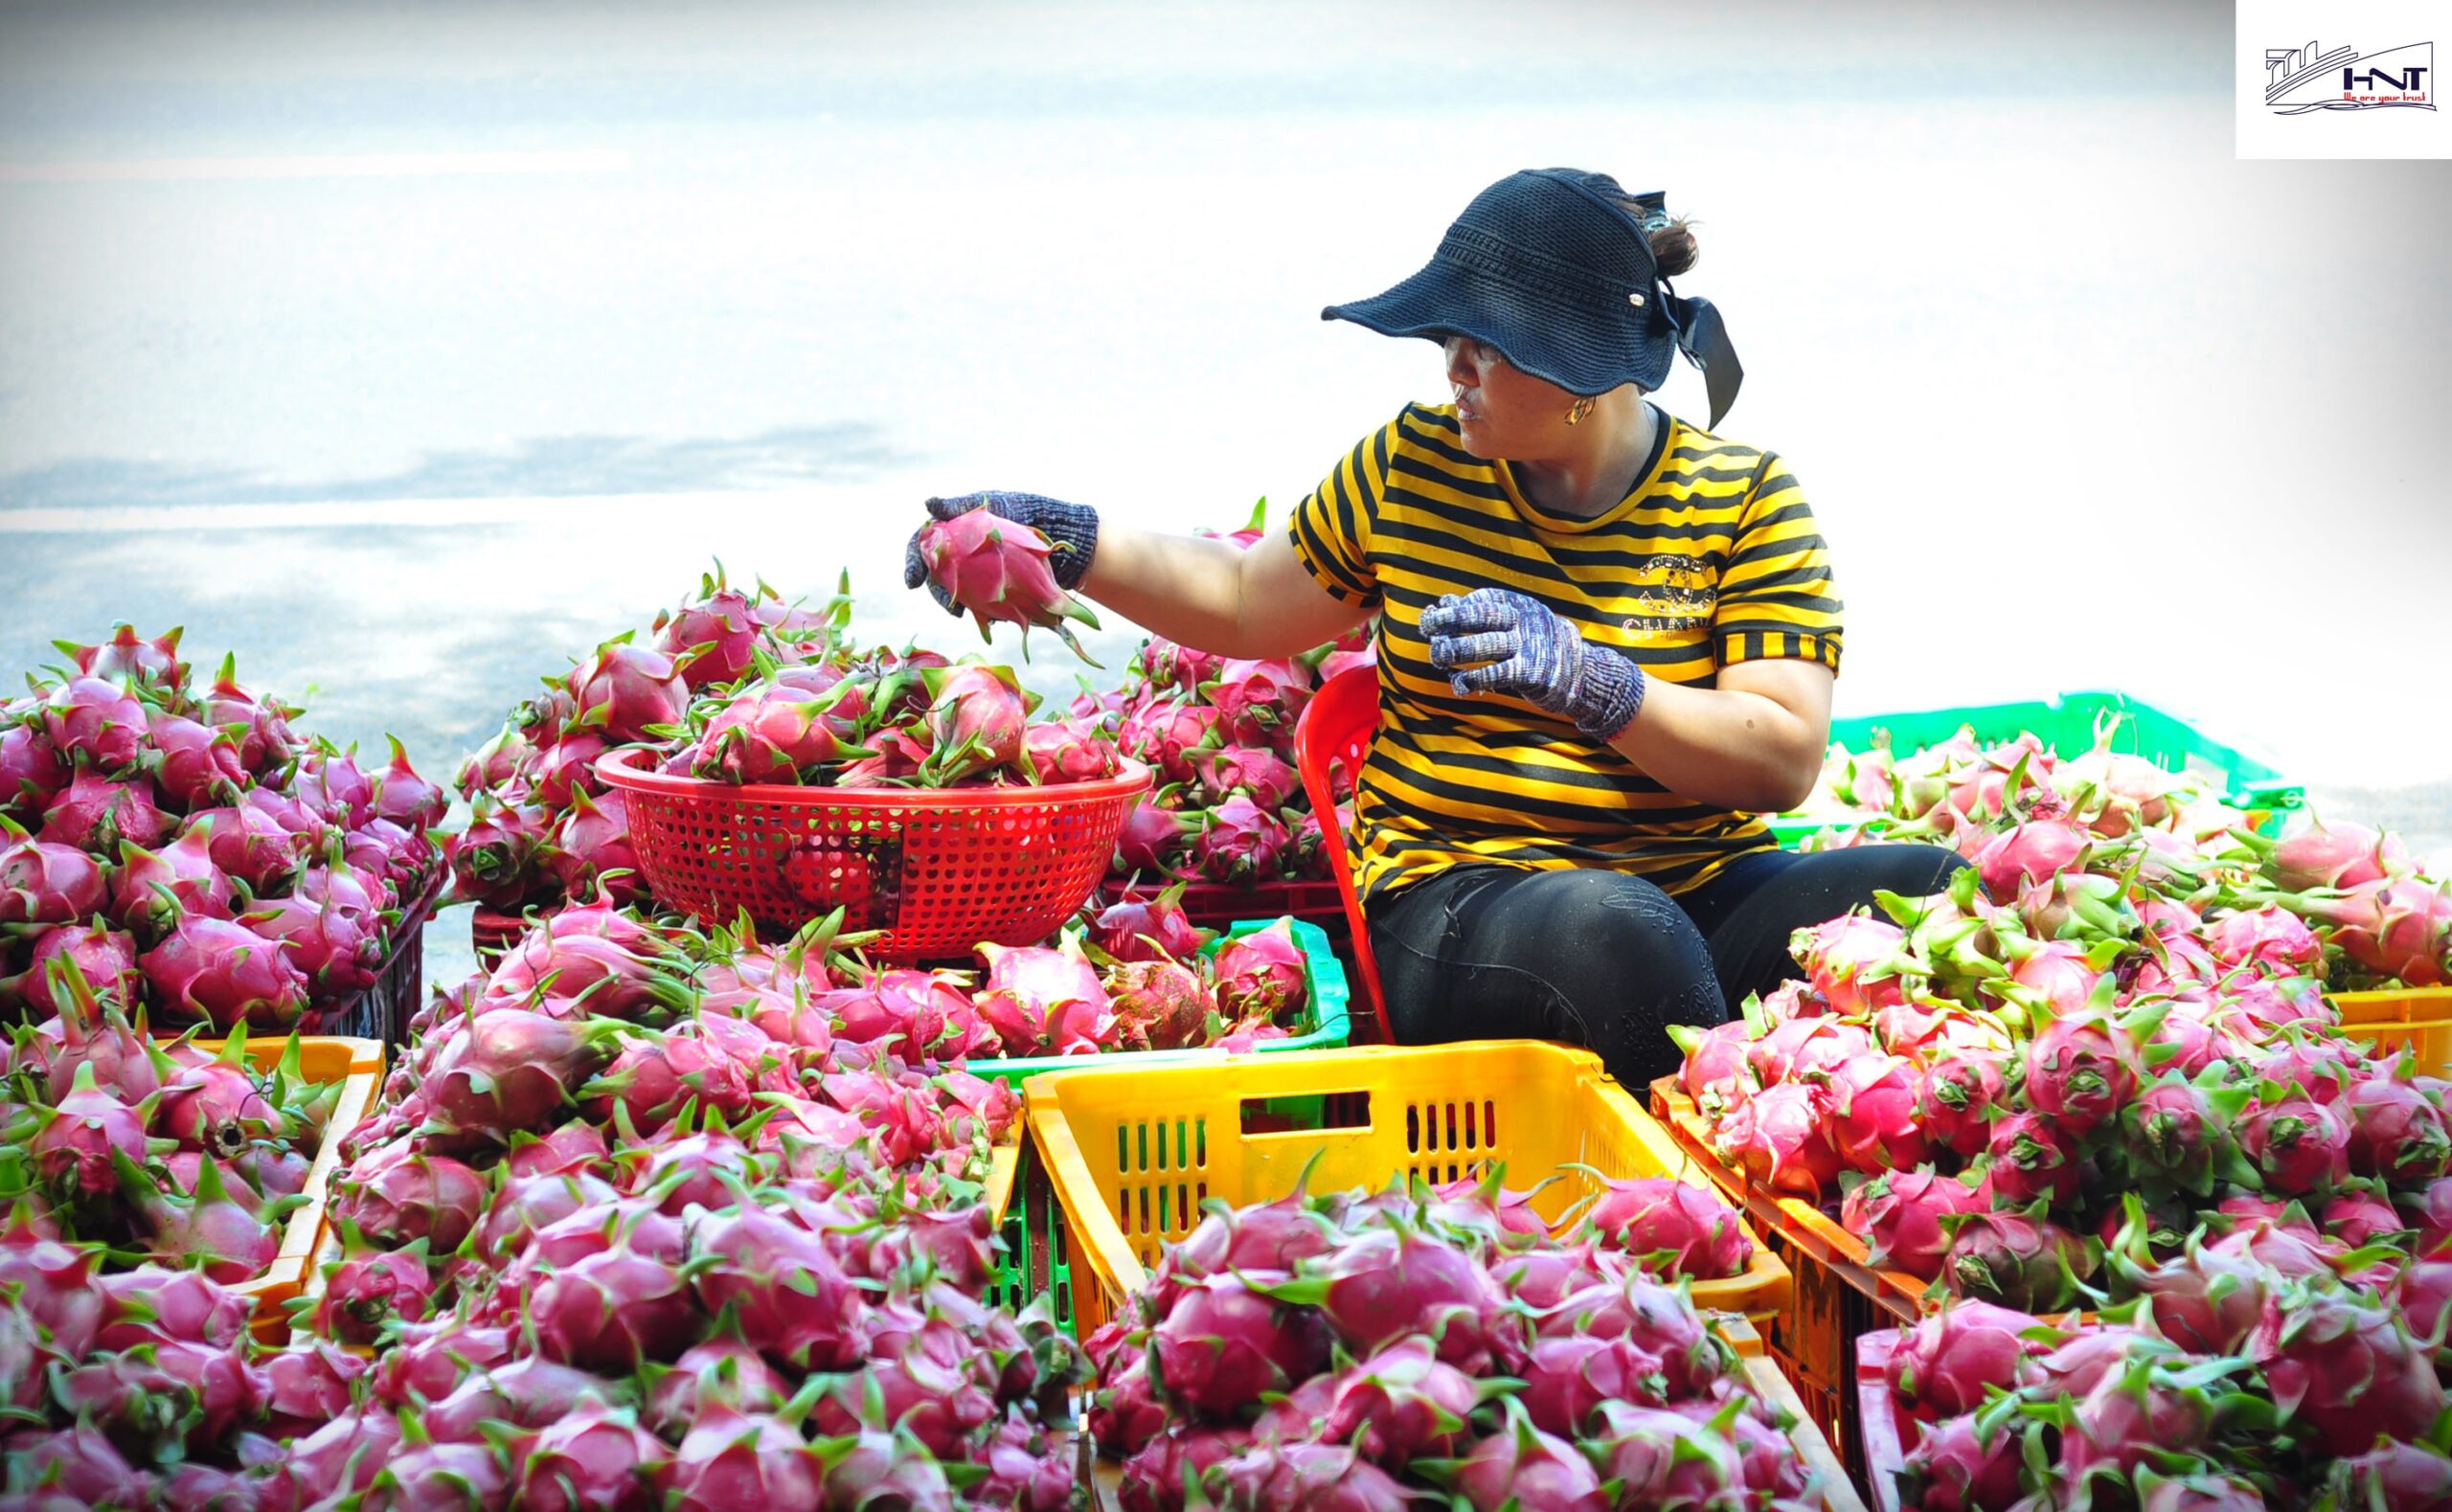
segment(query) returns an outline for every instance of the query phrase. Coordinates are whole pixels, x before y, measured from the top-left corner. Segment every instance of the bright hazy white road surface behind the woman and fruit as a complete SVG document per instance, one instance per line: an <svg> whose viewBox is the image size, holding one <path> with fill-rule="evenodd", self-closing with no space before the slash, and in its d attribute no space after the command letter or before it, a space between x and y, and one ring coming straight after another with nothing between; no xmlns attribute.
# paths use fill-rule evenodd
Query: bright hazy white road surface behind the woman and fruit
<svg viewBox="0 0 2452 1512"><path fill-rule="evenodd" d="M2452 828L2452 164L2234 162L2234 56L2163 0L10 5L0 667L184 622L446 774L714 556L959 649L924 495L1282 522L1444 397L1319 306L1572 164L1699 218L1841 713L2116 686Z"/></svg>

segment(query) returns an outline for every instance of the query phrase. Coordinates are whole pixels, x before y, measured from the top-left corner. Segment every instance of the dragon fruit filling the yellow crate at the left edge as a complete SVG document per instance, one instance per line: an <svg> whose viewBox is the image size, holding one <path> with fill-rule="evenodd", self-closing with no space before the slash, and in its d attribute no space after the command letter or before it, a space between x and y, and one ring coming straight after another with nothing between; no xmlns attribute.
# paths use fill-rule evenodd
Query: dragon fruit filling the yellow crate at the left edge
<svg viewBox="0 0 2452 1512"><path fill-rule="evenodd" d="M0 1208L42 1238L255 1279L306 1201L343 1083L302 1076L297 1037L257 1071L243 1029L154 1041L69 985L61 1015L0 1044Z"/></svg>

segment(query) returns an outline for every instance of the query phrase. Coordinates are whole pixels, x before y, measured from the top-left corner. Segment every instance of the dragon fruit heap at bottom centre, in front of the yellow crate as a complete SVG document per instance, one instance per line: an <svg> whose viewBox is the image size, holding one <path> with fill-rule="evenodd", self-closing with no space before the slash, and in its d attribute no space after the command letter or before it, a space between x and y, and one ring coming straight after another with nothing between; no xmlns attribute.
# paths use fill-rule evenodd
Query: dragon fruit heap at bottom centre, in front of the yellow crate
<svg viewBox="0 0 2452 1512"><path fill-rule="evenodd" d="M1609 1181L1569 1240L1483 1181L1206 1215L1084 1348L1130 1512L1819 1505L1675 1277L1753 1242L1714 1193Z"/></svg>

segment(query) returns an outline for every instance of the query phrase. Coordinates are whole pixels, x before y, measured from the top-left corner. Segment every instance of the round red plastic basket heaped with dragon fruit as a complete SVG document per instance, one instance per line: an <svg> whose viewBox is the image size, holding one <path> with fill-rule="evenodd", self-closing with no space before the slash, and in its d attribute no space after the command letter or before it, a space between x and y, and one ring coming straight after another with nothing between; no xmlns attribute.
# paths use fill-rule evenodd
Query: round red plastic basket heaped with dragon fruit
<svg viewBox="0 0 2452 1512"><path fill-rule="evenodd" d="M799 929L843 909L883 929L880 961L1035 946L1089 897L1150 769L1049 787L839 789L640 772L615 750L596 774L628 799L630 845L667 909L723 924L748 909Z"/></svg>

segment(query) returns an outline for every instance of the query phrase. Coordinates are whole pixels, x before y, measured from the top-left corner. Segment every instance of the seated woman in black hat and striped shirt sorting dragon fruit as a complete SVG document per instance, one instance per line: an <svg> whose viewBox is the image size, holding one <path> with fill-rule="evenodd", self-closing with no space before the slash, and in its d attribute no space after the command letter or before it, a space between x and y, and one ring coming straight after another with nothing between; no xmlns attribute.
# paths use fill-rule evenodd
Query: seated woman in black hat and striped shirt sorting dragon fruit
<svg viewBox="0 0 2452 1512"><path fill-rule="evenodd" d="M1037 495L929 500L1042 529L1059 583L1206 652L1373 622L1356 882L1410 1044L1569 1039L1640 1083L1677 1064L1667 1024L1790 975L1797 926L1957 865L1788 855L1756 818L1812 792L1839 598L1780 458L1645 397L1675 350L1714 426L1736 395L1719 314L1667 284L1692 262L1658 194L1574 169L1493 184L1422 272L1322 311L1439 341L1454 404L1407 404L1251 551ZM905 573L924 581L917 554Z"/></svg>

